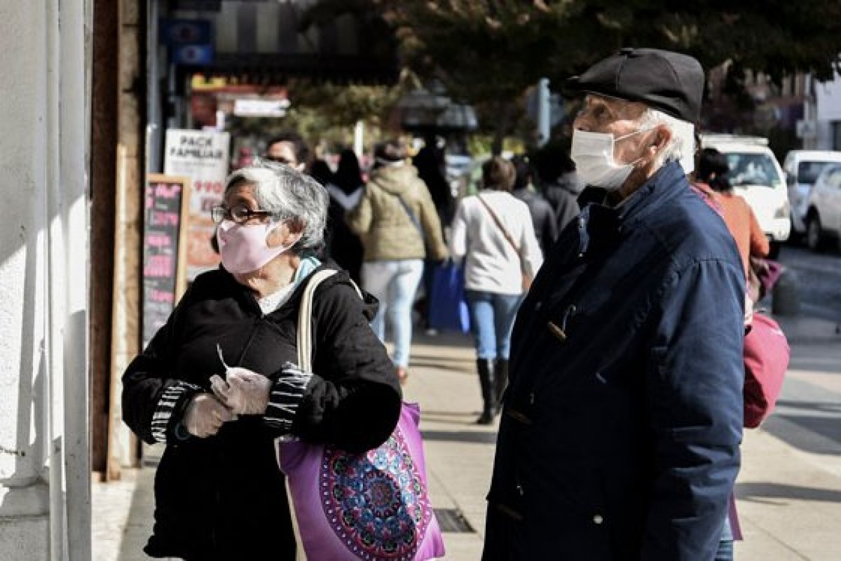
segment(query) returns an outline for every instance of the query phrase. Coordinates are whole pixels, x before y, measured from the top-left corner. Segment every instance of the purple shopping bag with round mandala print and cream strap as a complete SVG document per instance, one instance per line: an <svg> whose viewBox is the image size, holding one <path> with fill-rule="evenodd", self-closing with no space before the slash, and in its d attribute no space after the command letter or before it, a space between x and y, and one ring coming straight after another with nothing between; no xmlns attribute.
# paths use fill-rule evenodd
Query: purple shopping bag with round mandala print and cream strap
<svg viewBox="0 0 841 561"><path fill-rule="evenodd" d="M299 310L299 367L311 370L312 298L335 271L310 278ZM426 482L417 404L404 403L389 439L366 453L325 444L276 443L286 475L298 559L425 561L442 558L444 542Z"/></svg>

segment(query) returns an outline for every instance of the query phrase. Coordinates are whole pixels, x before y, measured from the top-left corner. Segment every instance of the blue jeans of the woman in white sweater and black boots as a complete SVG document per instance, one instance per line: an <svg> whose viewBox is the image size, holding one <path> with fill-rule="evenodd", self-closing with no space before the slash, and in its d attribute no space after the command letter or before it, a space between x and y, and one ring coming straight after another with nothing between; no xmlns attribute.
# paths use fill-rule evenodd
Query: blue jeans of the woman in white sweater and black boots
<svg viewBox="0 0 841 561"><path fill-rule="evenodd" d="M522 294L496 294L465 290L470 308L470 329L478 358L508 359L511 328L520 307Z"/></svg>

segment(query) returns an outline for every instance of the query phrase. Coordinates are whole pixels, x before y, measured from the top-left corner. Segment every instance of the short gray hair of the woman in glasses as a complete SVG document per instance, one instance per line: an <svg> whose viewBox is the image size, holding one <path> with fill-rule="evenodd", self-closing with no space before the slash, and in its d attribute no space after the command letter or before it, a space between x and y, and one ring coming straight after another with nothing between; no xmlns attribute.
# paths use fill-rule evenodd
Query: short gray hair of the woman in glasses
<svg viewBox="0 0 841 561"><path fill-rule="evenodd" d="M280 221L299 220L304 233L294 251L318 251L324 245L327 224L327 190L312 177L274 161L256 158L248 167L225 180L225 194L241 183L254 185L254 198L262 210Z"/></svg>

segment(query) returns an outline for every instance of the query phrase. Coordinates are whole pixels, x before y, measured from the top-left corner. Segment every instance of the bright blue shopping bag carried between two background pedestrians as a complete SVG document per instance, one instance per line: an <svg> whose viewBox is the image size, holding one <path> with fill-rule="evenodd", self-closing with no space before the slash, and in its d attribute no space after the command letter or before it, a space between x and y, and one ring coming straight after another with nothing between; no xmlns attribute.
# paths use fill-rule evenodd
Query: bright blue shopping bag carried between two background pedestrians
<svg viewBox="0 0 841 561"><path fill-rule="evenodd" d="M432 273L429 326L439 331L470 331L470 311L464 299L464 272L452 261L437 265Z"/></svg>

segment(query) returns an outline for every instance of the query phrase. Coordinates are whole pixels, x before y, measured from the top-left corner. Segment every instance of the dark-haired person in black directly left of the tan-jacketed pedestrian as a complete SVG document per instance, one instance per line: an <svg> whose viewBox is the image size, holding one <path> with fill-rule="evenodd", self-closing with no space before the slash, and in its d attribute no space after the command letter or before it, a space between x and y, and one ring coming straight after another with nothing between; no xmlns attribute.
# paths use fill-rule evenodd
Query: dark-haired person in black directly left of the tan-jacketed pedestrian
<svg viewBox="0 0 841 561"><path fill-rule="evenodd" d="M356 152L341 151L336 174L326 187L330 194L327 251L336 263L351 273L354 282L362 283L362 241L345 222L345 214L359 204L365 187Z"/></svg>

